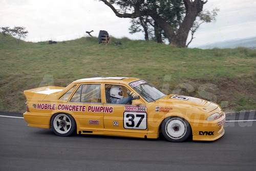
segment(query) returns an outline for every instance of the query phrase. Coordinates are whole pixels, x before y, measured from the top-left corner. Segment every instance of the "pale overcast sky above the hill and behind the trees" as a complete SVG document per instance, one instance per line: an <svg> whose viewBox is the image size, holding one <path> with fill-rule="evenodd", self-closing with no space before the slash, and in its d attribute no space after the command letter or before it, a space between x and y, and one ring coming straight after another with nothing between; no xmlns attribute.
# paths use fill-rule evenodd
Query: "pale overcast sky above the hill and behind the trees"
<svg viewBox="0 0 256 171"><path fill-rule="evenodd" d="M217 21L202 24L190 47L256 36L255 0L208 0L204 5L214 8L220 9ZM106 30L116 38L144 39L142 32L129 33L130 20L98 0L0 0L0 27L25 27L25 41L72 40L91 30L95 37Z"/></svg>

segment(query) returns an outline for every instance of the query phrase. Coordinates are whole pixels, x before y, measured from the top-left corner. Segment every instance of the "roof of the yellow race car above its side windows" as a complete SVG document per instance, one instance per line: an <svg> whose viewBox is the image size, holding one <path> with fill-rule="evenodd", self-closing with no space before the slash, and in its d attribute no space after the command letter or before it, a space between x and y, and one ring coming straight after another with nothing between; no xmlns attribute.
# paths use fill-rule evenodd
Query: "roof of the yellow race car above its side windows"
<svg viewBox="0 0 256 171"><path fill-rule="evenodd" d="M118 82L132 82L139 80L139 78L129 78L129 77L93 77L93 78L82 78L75 80L73 83L83 83L83 82L111 82L111 83L118 83Z"/></svg>

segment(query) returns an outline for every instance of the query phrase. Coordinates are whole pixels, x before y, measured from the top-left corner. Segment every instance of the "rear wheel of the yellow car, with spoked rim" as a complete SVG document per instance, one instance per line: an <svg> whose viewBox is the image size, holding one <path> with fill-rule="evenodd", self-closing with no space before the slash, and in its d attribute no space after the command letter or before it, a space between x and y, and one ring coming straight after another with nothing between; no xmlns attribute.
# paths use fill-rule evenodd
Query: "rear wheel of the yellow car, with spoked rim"
<svg viewBox="0 0 256 171"><path fill-rule="evenodd" d="M53 132L61 137L68 137L76 131L76 122L69 114L54 114L51 118L51 126Z"/></svg>

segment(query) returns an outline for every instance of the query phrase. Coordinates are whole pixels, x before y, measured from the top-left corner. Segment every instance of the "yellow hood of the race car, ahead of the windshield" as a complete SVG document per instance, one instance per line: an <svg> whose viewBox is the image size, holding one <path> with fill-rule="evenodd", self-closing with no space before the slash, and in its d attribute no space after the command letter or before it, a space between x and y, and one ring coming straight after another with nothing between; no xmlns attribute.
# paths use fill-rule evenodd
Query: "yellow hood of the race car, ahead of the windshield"
<svg viewBox="0 0 256 171"><path fill-rule="evenodd" d="M218 104L214 102L210 102L200 98L175 95L175 94L170 94L159 99L159 103L170 104L170 105L182 105L183 108L188 108L188 109L191 107L194 107L207 113L214 111L218 108Z"/></svg>

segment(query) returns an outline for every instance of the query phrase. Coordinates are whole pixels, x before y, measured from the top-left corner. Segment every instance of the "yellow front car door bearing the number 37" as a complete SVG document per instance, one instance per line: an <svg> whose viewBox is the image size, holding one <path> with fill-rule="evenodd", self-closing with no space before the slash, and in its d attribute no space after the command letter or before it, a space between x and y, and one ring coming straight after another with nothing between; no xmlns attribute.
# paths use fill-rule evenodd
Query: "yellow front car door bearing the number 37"
<svg viewBox="0 0 256 171"><path fill-rule="evenodd" d="M110 100L110 90L119 86L122 89L123 98L127 97L126 86L118 84L104 84L105 103L104 128L110 131L119 132L146 132L147 131L147 109L141 99L136 99L139 105L132 103L117 104ZM131 91L131 90L129 90Z"/></svg>

